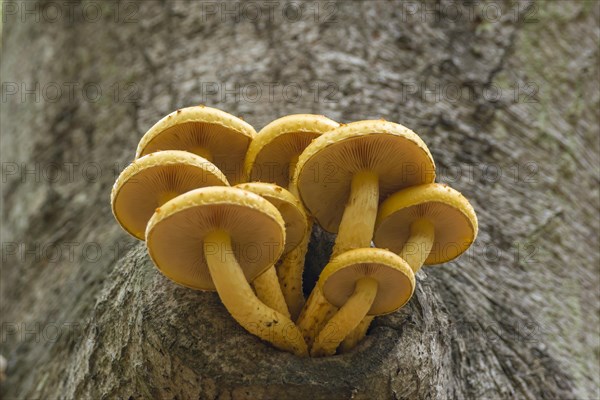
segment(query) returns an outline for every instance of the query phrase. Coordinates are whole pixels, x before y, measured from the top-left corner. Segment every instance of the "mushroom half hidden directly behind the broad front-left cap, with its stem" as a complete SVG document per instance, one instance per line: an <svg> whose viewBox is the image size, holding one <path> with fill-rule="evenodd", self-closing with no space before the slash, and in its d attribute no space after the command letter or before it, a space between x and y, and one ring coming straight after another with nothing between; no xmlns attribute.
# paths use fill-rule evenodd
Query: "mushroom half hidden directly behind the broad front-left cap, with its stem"
<svg viewBox="0 0 600 400"><path fill-rule="evenodd" d="M307 234L306 226L308 217L304 213L300 201L293 194L273 183L241 183L236 187L256 193L268 200L279 210L285 222L286 240L283 257L304 241L304 236ZM285 297L277 279L275 265L272 265L256 277L252 284L256 290L256 295L263 303L286 315L288 318L290 317Z"/></svg>

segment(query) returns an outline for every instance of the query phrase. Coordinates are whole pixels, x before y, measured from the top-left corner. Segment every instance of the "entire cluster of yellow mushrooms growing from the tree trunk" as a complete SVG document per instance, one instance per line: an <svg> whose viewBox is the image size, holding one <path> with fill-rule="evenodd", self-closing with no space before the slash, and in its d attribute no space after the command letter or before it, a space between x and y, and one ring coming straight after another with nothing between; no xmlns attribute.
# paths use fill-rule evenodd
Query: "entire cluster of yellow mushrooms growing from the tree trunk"
<svg viewBox="0 0 600 400"><path fill-rule="evenodd" d="M113 214L170 280L216 291L248 332L298 356L354 348L405 305L422 265L458 257L477 218L411 130L384 120L279 118L260 132L223 111L177 110L142 137ZM306 300L313 223L337 233ZM372 247L374 244L375 247Z"/></svg>

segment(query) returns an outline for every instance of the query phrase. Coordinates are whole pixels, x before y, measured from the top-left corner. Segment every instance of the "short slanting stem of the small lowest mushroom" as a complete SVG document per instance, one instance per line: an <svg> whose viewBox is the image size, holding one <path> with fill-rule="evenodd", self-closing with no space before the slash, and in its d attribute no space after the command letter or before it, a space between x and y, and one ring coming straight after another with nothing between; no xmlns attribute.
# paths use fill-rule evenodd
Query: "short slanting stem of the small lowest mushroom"
<svg viewBox="0 0 600 400"><path fill-rule="evenodd" d="M319 332L311 348L311 356L321 357L335 354L340 342L365 318L375 296L377 296L375 279L366 277L356 282L352 296Z"/></svg>

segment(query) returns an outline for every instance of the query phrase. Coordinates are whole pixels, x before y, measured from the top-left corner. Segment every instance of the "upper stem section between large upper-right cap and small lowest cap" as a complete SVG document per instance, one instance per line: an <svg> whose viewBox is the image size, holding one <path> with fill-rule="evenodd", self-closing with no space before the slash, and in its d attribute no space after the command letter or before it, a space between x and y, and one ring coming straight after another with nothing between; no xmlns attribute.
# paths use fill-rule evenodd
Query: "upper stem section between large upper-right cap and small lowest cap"
<svg viewBox="0 0 600 400"><path fill-rule="evenodd" d="M332 257L347 250L370 246L378 202L378 175L372 171L356 173L352 178L350 197L342 215Z"/></svg>

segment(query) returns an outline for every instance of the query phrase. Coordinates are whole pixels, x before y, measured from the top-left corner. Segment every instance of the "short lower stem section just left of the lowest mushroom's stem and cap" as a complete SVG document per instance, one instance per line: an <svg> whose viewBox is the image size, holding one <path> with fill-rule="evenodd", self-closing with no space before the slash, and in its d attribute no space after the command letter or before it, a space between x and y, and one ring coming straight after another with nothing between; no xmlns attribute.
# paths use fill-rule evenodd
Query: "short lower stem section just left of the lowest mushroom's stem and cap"
<svg viewBox="0 0 600 400"><path fill-rule="evenodd" d="M302 332L304 341L310 348L317 334L321 331L325 323L331 318L337 307L334 307L327 301L318 285L310 293L300 316L296 321L298 328Z"/></svg>

